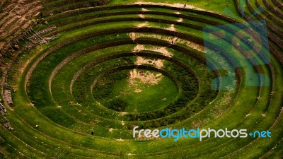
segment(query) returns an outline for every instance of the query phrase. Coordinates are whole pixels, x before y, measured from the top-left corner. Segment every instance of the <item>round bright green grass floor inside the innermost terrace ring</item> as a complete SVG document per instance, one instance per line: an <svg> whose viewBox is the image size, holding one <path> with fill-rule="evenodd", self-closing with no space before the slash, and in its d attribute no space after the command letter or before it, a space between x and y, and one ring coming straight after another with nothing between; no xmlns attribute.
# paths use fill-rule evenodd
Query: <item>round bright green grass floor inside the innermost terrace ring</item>
<svg viewBox="0 0 283 159"><path fill-rule="evenodd" d="M161 78L157 84L143 83L139 78L132 80L133 84L130 84L129 78L115 81L110 95L98 102L107 103L108 99L125 101L126 112L150 112L165 107L178 95L178 88L167 76Z"/></svg>

